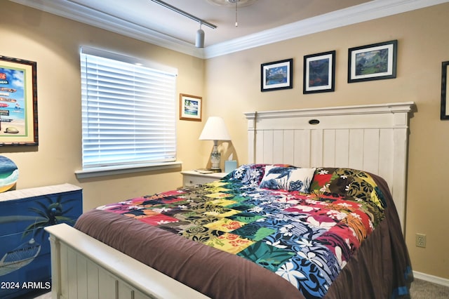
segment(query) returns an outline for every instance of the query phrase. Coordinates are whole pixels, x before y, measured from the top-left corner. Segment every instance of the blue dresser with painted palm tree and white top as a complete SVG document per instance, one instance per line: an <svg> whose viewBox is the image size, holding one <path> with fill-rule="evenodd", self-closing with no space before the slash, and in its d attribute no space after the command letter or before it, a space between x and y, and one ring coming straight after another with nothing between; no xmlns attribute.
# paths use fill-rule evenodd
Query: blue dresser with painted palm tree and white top
<svg viewBox="0 0 449 299"><path fill-rule="evenodd" d="M0 193L0 298L51 290L48 233L74 225L83 212L81 187L63 184Z"/></svg>

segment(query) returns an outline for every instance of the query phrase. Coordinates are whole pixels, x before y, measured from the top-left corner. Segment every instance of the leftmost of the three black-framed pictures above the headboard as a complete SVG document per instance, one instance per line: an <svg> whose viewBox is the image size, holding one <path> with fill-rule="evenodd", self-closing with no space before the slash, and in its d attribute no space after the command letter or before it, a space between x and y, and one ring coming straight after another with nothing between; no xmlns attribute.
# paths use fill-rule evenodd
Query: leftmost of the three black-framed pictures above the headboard
<svg viewBox="0 0 449 299"><path fill-rule="evenodd" d="M260 91L293 88L293 58L260 65Z"/></svg>

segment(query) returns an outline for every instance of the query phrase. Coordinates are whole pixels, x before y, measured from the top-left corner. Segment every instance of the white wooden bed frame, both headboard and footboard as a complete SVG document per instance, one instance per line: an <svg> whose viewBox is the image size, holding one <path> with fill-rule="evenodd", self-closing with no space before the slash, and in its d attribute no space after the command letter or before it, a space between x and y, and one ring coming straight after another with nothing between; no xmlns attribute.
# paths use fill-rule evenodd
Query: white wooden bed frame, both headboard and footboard
<svg viewBox="0 0 449 299"><path fill-rule="evenodd" d="M414 103L250 112L248 163L351 167L387 180L405 225L408 113ZM319 119L317 125L310 119ZM51 234L53 298L207 298L69 225Z"/></svg>

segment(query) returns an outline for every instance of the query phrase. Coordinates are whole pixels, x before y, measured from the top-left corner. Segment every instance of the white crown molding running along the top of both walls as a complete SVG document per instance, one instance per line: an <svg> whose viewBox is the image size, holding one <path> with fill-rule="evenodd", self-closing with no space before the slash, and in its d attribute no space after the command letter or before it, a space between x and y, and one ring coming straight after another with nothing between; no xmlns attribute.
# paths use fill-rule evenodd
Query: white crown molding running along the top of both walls
<svg viewBox="0 0 449 299"><path fill-rule="evenodd" d="M193 44L176 39L173 36L95 11L69 0L45 1L45 4L34 0L10 1L203 59L449 2L449 0L373 0L340 11L267 29L238 39L231 39L206 48L196 48Z"/></svg>

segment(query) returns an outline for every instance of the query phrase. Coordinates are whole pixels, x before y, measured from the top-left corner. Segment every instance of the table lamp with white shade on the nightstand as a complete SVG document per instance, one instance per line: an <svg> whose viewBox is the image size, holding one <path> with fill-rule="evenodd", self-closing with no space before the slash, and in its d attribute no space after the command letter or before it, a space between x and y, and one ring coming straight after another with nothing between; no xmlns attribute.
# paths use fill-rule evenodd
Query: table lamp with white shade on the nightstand
<svg viewBox="0 0 449 299"><path fill-rule="evenodd" d="M213 140L213 150L210 153L210 163L212 164L210 171L221 173L221 154L218 152L217 143L218 140L231 140L225 121L221 117L209 117L201 135L199 135L199 140Z"/></svg>

